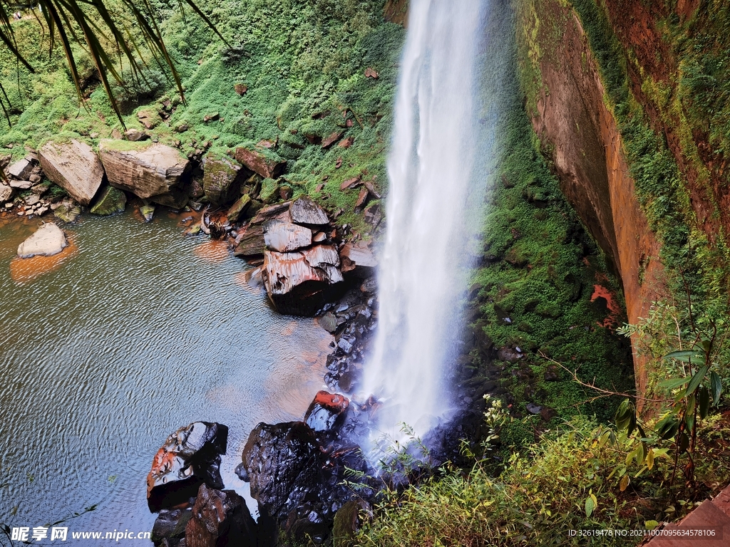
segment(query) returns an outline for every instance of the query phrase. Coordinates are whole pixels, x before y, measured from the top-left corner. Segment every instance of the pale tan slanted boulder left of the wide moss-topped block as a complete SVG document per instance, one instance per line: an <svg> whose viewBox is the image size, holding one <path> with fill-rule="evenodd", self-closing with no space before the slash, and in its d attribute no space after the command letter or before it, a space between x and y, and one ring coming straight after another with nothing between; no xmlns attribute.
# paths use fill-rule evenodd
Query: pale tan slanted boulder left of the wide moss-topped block
<svg viewBox="0 0 730 547"><path fill-rule="evenodd" d="M88 144L49 141L38 150L38 159L51 182L82 205L91 203L104 178L104 166Z"/></svg>

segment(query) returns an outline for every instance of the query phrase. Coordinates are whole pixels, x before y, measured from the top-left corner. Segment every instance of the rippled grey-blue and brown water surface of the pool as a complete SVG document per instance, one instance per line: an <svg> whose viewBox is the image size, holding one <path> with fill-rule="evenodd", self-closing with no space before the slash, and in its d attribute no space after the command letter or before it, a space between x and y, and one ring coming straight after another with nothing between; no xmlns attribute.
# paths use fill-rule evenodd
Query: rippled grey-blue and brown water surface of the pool
<svg viewBox="0 0 730 547"><path fill-rule="evenodd" d="M322 386L329 335L269 309L244 263L179 222L85 217L63 255L28 263L15 252L39 222L0 220L0 522L98 504L69 533L149 530L145 477L170 432L227 424L221 471L242 490L248 432L300 419Z"/></svg>

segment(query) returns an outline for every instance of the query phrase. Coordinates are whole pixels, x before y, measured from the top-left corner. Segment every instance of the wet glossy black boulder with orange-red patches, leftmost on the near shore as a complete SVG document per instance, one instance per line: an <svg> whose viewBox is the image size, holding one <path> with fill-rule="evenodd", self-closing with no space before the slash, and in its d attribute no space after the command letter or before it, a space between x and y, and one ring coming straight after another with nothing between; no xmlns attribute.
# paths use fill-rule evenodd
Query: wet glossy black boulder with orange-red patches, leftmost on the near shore
<svg viewBox="0 0 730 547"><path fill-rule="evenodd" d="M222 489L220 456L226 454L228 427L193 422L172 433L157 451L147 475L147 505L161 509L185 503L201 484Z"/></svg>

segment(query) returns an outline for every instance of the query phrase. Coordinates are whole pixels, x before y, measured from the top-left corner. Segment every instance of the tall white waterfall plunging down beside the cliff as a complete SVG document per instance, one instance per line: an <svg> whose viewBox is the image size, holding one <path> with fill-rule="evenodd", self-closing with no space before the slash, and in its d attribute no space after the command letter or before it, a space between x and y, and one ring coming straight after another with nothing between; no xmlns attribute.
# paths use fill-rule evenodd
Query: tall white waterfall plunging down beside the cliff
<svg viewBox="0 0 730 547"><path fill-rule="evenodd" d="M413 0L388 156L380 309L364 392L378 424L423 435L450 411L470 217L483 204L477 59L487 2ZM473 224L473 222L472 222Z"/></svg>

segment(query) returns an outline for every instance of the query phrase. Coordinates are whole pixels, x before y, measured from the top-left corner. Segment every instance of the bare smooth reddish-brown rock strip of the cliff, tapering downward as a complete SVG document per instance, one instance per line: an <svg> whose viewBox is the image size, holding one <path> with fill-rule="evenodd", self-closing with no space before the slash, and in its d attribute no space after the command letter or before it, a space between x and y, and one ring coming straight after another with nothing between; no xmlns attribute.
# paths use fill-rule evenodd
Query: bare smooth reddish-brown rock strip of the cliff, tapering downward
<svg viewBox="0 0 730 547"><path fill-rule="evenodd" d="M621 278L629 322L647 317L664 294L658 242L639 208L621 136L604 104L588 40L575 14L558 0L537 0L520 12L520 55L529 63L537 99L531 117L564 195ZM526 59L526 55L529 58ZM634 351L637 389L645 360Z"/></svg>

